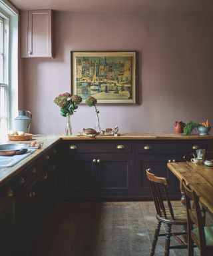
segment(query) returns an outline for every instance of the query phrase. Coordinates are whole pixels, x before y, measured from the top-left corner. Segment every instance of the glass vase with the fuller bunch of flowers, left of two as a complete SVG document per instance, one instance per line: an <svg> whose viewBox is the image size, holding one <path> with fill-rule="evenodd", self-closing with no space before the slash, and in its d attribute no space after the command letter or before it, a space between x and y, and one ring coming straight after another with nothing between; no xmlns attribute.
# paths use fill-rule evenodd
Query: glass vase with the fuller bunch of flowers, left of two
<svg viewBox="0 0 213 256"><path fill-rule="evenodd" d="M55 97L54 103L60 107L61 115L67 117L65 126L65 135L72 135L71 116L76 112L82 98L79 95L71 95L70 93L62 93Z"/></svg>

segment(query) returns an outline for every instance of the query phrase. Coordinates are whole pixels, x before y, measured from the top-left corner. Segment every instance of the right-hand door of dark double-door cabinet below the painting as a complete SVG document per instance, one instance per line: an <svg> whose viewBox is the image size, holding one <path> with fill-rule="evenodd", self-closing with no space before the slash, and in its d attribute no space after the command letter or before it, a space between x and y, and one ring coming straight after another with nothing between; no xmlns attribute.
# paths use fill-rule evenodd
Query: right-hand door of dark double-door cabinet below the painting
<svg viewBox="0 0 213 256"><path fill-rule="evenodd" d="M131 154L102 154L96 157L99 196L125 196L132 185Z"/></svg>

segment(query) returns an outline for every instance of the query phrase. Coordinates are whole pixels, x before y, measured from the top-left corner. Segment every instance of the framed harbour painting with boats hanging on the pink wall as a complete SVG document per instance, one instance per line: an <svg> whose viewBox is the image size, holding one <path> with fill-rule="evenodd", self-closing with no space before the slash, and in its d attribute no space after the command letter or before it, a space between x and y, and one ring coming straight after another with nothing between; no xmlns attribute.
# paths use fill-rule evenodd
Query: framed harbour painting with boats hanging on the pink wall
<svg viewBox="0 0 213 256"><path fill-rule="evenodd" d="M71 51L71 87L83 102L136 103L136 51Z"/></svg>

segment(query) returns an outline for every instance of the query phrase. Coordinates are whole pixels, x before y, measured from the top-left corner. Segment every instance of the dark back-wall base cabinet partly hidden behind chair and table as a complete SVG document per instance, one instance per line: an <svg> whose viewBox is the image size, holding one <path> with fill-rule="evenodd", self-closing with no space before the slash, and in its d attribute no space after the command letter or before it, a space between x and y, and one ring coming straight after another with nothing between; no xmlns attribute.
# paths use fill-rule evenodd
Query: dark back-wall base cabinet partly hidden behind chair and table
<svg viewBox="0 0 213 256"><path fill-rule="evenodd" d="M135 151L135 181L136 195L142 199L151 199L150 183L146 178L146 169L160 177L168 179L168 191L171 199L180 198L180 182L168 170L168 162L185 161L183 156L196 151L208 149L206 141L136 141Z"/></svg>

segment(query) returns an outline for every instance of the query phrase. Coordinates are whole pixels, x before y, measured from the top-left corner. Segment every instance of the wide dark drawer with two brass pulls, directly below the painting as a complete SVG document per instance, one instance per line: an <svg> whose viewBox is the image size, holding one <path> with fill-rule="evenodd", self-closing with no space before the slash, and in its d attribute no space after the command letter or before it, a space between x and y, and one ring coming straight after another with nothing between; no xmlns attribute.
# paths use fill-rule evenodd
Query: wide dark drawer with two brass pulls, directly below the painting
<svg viewBox="0 0 213 256"><path fill-rule="evenodd" d="M75 142L70 141L65 143L67 151L76 153L129 153L132 152L132 144L124 143L124 141L102 141L101 143L95 141L94 143L88 142Z"/></svg>

